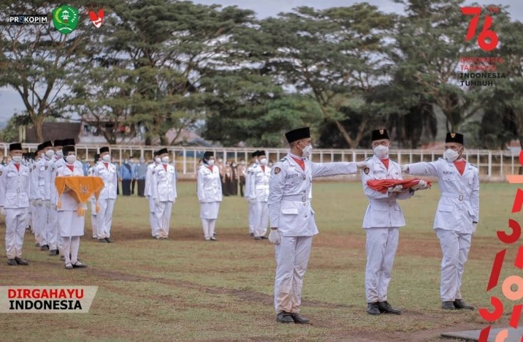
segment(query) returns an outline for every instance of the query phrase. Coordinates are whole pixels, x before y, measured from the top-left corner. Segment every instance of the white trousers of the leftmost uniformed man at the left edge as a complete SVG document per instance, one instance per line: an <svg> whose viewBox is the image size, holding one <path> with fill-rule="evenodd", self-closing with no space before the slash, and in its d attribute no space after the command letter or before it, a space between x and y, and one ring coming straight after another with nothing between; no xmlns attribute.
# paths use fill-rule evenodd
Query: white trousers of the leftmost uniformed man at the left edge
<svg viewBox="0 0 523 342"><path fill-rule="evenodd" d="M22 256L22 244L27 226L27 208L6 208L6 256L14 259Z"/></svg>

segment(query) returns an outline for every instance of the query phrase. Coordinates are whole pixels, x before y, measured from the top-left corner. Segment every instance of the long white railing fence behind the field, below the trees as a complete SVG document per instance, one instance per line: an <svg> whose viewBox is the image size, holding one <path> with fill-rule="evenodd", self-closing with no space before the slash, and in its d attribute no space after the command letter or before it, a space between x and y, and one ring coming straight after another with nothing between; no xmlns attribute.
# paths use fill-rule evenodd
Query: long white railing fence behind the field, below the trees
<svg viewBox="0 0 523 342"><path fill-rule="evenodd" d="M27 152L34 152L37 144L22 144ZM215 157L222 157L223 160L240 162L250 160L250 153L255 148L199 148L199 147L179 147L165 146L171 153L172 160L176 166L179 176L185 178L195 177L199 160L203 157L204 151L212 150ZM8 143L0 143L0 154L8 155ZM100 146L77 145L77 155L84 161L93 161L95 153L98 153ZM161 146L109 146L112 157L116 162L122 162L130 155L135 158L144 157L152 160L154 150ZM258 148L266 151L267 159L277 162L287 154L286 148ZM441 151L442 153L443 151ZM434 150L391 150L389 156L392 160L400 164L410 164L414 162L430 162L441 157L441 153ZM314 149L312 160L314 162L359 162L372 156L372 150L354 149ZM507 174L518 173L520 169L519 155L510 151L503 150L465 150L466 159L478 166L480 175L485 180L503 180Z"/></svg>

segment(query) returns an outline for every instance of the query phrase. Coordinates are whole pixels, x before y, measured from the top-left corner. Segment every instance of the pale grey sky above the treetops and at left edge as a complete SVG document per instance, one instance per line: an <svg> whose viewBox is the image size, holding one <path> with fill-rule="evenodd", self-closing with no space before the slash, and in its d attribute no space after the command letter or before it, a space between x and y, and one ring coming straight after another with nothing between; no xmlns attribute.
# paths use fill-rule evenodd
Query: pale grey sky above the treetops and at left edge
<svg viewBox="0 0 523 342"><path fill-rule="evenodd" d="M257 17L265 18L276 16L281 12L290 12L293 8L299 6L309 6L314 8L330 8L340 6L351 6L357 2L350 0L192 0L195 3L202 3L204 5L211 5L217 3L223 7L238 6L238 8L247 8L254 10ZM365 2L377 6L379 10L385 13L402 13L402 6L394 3L392 0L366 0ZM465 5L472 3L480 3L480 5L488 5L495 3L501 6L510 6L509 14L513 20L523 21L523 0L476 0L464 1ZM20 95L12 88L0 88L0 122L8 121L8 119L15 114L24 110L24 104L20 99Z"/></svg>

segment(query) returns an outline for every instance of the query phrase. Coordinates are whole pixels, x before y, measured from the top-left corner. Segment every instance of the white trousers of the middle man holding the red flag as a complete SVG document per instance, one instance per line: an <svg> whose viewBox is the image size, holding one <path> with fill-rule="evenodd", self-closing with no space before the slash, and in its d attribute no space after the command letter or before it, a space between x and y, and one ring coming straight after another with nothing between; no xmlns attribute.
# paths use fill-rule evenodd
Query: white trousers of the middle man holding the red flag
<svg viewBox="0 0 523 342"><path fill-rule="evenodd" d="M388 284L391 282L400 228L365 228L365 232L365 297L367 303L384 302L387 300Z"/></svg>

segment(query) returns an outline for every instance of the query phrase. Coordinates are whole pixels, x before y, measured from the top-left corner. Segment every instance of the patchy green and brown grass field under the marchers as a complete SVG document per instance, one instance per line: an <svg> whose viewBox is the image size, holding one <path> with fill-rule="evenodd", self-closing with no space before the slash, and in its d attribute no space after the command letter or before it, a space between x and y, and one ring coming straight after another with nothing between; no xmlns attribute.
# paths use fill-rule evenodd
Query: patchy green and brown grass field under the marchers
<svg viewBox="0 0 523 342"><path fill-rule="evenodd" d="M489 307L485 292L494 255L506 247L495 231L505 229L516 187L484 184L480 224L465 266L462 293L474 306ZM389 301L402 316L365 312L367 199L359 182L317 182L313 206L320 233L314 238L303 286L301 312L312 325L280 325L273 312L273 247L248 236L247 203L226 197L217 224L218 242L203 239L194 182L178 185L170 240L153 240L144 199L116 201L112 238L91 240L86 219L79 258L86 269L68 271L25 235L28 267L0 263L0 283L16 286L99 286L88 314L3 314L3 341L440 341L456 329L481 329L478 311L440 309L441 251L432 221L439 189L402 201L407 226L400 233ZM5 224L0 225L5 235ZM501 280L517 274L509 248ZM508 325L513 303L506 304ZM510 305L510 306L509 306Z"/></svg>

